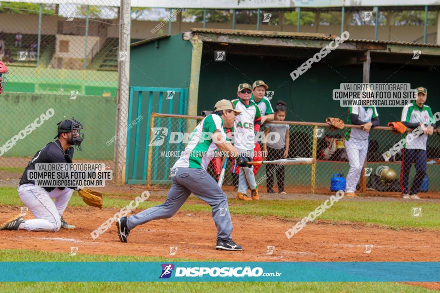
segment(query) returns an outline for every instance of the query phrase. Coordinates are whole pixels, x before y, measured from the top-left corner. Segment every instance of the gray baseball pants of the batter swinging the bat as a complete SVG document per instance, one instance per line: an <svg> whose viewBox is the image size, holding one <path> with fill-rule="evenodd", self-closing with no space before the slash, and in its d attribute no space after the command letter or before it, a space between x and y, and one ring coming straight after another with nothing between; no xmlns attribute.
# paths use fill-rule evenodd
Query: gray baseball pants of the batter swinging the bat
<svg viewBox="0 0 440 293"><path fill-rule="evenodd" d="M226 194L203 169L174 168L171 171L171 189L163 204L127 217L127 228L133 229L152 220L171 218L183 205L191 192L212 208L212 219L217 227L217 238L232 240L232 221Z"/></svg>

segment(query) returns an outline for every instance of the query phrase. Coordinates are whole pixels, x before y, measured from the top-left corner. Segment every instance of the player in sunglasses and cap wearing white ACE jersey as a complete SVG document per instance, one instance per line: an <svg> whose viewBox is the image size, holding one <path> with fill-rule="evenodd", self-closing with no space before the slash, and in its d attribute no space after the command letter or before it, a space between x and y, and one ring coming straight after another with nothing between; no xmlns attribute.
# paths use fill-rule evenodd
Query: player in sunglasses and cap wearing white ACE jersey
<svg viewBox="0 0 440 293"><path fill-rule="evenodd" d="M234 146L238 151L246 157L252 158L253 149L255 147L255 134L259 131L261 125L261 114L258 106L250 101L251 87L248 83L238 85L238 99L232 100L235 108L241 111L241 115L237 117L233 125ZM234 166L232 166L234 170ZM247 197L247 187L251 192L251 197ZM238 177L237 198L240 200L250 201L258 200L258 186L255 182L255 176L252 167L243 167L240 169Z"/></svg>

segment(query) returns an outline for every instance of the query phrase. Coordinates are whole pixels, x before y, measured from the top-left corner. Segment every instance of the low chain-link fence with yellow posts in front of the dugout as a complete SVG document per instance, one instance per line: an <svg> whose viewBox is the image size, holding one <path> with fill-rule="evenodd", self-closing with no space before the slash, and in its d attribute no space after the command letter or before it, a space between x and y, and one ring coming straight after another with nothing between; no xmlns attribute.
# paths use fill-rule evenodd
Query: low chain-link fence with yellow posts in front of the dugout
<svg viewBox="0 0 440 293"><path fill-rule="evenodd" d="M185 143L190 133L202 118L201 116L185 117L182 115L162 114L151 116L154 130L149 134L147 184L157 187L170 185L170 168L178 159L180 153L184 151ZM288 158L316 158L316 164L284 166L285 192L332 194L334 193L332 189L338 190L341 186L345 189L344 182L350 169L348 160L350 148L347 148L344 141L349 129L360 129L359 126L345 125L345 128L342 130L330 130L325 123L287 121L270 123L286 124L289 126ZM262 127L263 130L264 126ZM360 165L361 172L359 172L359 181L356 184L356 193L370 196L400 195L402 152L401 150L394 151L393 153L395 154L391 154L391 156L387 156L386 152L397 145L404 136L392 133L389 127L381 126L372 128L369 133L369 147L365 155L365 161L358 164ZM440 169L436 166L435 161L435 159L440 158L440 136L437 135L436 131L434 131L432 136L428 136L426 150L426 178L422 178L423 182L419 195L435 197L440 191L440 184L436 180L440 175ZM385 157L387 158L386 160ZM426 161L414 161L415 165L413 164L409 169L409 190L416 176L415 166L419 167L417 164L423 165ZM227 191L236 190L234 187L236 182L234 182L234 176L231 173L231 165L231 160L228 160L223 181L223 189ZM221 166L221 158L213 159L208 166L208 173L215 180L218 179ZM408 166L406 164L405 168ZM273 191L278 192L276 179L276 170L278 168L273 168L269 173L266 172L266 168L267 165L262 165L255 176L258 190L260 192L267 192L267 178L272 176L274 181ZM382 177L382 173L386 173L387 168L393 170L394 173L390 172L391 174L387 173L387 176Z"/></svg>

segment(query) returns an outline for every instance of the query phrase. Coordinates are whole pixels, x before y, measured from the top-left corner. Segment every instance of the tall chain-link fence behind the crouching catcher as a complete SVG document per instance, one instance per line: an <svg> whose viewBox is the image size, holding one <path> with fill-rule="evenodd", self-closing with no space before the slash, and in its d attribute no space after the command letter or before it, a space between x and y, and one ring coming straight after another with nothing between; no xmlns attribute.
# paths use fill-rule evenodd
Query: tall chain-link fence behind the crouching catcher
<svg viewBox="0 0 440 293"><path fill-rule="evenodd" d="M120 64L122 15L112 4L1 2L0 59L9 73L0 96L0 186L16 186L29 159L53 141L56 123L72 117L84 127L75 162L113 169L124 157L126 136L114 137L127 127L127 96L117 97L129 67ZM120 84L128 93L128 78Z"/></svg>

